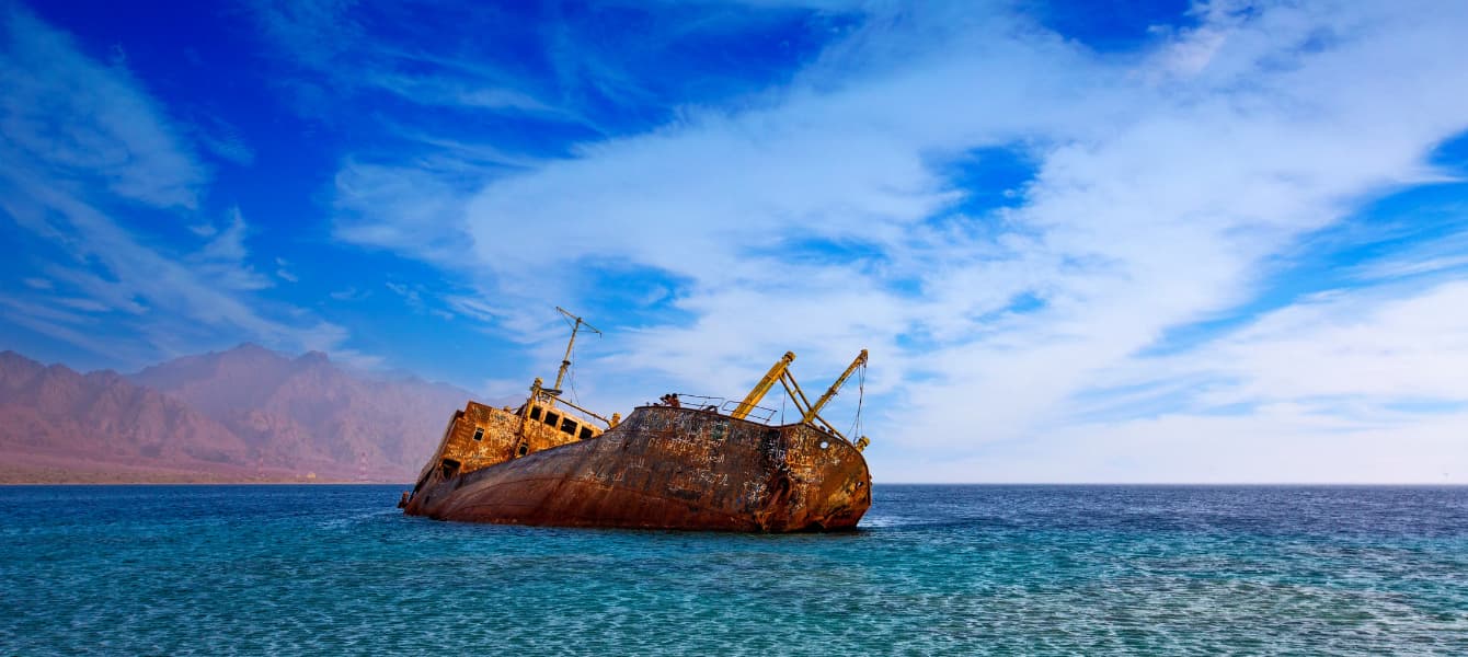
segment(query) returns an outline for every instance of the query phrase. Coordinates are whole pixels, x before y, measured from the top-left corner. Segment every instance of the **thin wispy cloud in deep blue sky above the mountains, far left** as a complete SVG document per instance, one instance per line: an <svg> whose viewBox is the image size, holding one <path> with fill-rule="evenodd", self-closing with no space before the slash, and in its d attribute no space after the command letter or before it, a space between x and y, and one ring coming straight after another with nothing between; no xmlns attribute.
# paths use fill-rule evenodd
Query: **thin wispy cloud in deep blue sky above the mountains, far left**
<svg viewBox="0 0 1468 657"><path fill-rule="evenodd" d="M123 367L222 340L342 345L344 328L250 295L272 280L250 264L242 213L206 216L189 131L122 65L18 6L3 29L0 210L60 254L40 264L40 293L4 299L7 321Z"/></svg>

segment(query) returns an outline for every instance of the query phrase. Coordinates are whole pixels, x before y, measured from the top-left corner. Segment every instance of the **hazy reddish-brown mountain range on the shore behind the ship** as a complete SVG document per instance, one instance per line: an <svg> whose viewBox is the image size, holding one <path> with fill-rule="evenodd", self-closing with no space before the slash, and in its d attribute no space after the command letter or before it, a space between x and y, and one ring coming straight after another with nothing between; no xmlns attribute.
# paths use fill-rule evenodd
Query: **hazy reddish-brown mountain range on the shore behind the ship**
<svg viewBox="0 0 1468 657"><path fill-rule="evenodd" d="M0 353L0 481L413 481L474 394L241 345L137 374Z"/></svg>

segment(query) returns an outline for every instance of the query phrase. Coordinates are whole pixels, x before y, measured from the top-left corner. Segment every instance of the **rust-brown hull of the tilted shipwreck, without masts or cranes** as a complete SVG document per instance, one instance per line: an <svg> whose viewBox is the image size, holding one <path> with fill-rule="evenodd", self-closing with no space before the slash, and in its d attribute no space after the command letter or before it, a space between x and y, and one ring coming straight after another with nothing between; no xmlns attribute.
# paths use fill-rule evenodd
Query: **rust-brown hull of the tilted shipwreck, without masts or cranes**
<svg viewBox="0 0 1468 657"><path fill-rule="evenodd" d="M445 458L470 409L457 414ZM514 414L484 409L492 421ZM872 504L862 453L809 424L768 427L712 411L642 406L597 438L473 471L426 468L405 512L445 521L562 526L813 531L856 526ZM464 456L471 459L473 456ZM442 460L442 459L440 459ZM445 477L448 474L448 477Z"/></svg>

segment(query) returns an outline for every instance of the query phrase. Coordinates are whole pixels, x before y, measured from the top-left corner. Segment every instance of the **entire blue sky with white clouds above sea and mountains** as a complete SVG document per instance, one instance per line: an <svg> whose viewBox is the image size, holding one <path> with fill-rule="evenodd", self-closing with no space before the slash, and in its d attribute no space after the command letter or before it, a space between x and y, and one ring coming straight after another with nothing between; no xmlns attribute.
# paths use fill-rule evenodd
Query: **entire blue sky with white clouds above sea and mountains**
<svg viewBox="0 0 1468 657"><path fill-rule="evenodd" d="M1465 484L1465 34L1456 0L0 0L0 348L508 399L564 307L606 414L869 349L824 415L878 481Z"/></svg>

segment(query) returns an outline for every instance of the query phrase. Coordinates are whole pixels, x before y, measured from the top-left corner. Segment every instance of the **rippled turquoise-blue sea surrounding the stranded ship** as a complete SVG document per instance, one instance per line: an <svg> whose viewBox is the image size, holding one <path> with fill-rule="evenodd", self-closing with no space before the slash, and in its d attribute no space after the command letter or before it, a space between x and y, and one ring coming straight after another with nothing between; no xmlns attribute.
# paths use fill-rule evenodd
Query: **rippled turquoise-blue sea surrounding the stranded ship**
<svg viewBox="0 0 1468 657"><path fill-rule="evenodd" d="M862 531L0 487L3 654L1468 654L1468 488L878 485Z"/></svg>

